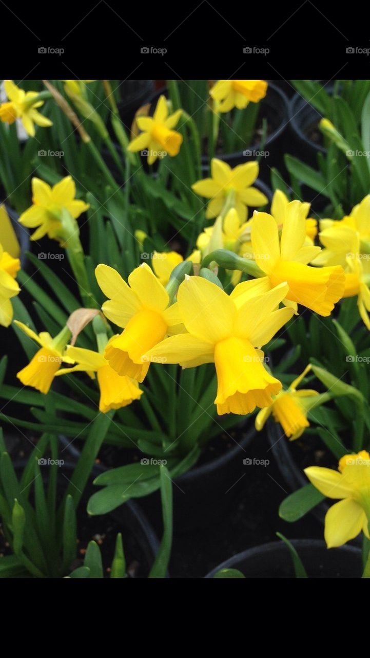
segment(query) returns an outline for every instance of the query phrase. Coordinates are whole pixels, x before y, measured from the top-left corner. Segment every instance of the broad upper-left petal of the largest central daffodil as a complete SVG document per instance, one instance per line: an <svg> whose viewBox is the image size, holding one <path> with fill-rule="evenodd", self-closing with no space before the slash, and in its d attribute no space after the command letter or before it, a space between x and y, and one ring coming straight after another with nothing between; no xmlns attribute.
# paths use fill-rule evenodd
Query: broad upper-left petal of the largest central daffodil
<svg viewBox="0 0 370 658"><path fill-rule="evenodd" d="M236 307L216 284L200 276L191 276L179 286L177 301L189 334L208 343L231 335Z"/></svg>

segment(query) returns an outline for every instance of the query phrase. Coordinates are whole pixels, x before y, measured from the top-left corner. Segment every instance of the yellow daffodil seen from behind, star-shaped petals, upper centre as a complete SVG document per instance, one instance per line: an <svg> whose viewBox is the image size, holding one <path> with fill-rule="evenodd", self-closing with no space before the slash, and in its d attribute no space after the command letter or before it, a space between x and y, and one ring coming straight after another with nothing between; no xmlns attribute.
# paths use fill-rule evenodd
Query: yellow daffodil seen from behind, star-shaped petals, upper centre
<svg viewBox="0 0 370 658"><path fill-rule="evenodd" d="M260 190L251 187L258 176L256 162L238 164L231 169L229 164L213 158L211 174L212 178L198 180L191 186L201 197L211 199L206 210L207 219L220 215L226 198L231 207L235 207L242 223L248 217L248 206L258 208L268 201Z"/></svg>

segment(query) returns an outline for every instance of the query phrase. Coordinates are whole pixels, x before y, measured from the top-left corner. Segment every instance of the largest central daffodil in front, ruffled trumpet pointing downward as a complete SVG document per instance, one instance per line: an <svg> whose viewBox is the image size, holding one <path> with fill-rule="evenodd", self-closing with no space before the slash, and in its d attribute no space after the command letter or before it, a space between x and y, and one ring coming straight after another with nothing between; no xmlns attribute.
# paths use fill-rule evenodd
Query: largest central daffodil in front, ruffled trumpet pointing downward
<svg viewBox="0 0 370 658"><path fill-rule="evenodd" d="M191 276L180 284L177 304L187 334L167 338L145 357L191 368L214 363L219 414L247 414L271 404L281 383L263 365L265 345L292 316L278 309L287 284L268 290L266 280L250 280L230 296L216 284Z"/></svg>

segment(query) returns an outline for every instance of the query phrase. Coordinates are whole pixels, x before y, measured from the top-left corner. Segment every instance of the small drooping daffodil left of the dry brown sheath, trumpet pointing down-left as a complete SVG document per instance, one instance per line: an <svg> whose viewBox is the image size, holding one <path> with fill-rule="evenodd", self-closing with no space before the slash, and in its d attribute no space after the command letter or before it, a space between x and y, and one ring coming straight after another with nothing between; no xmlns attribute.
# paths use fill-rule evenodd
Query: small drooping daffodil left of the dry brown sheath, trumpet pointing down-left
<svg viewBox="0 0 370 658"><path fill-rule="evenodd" d="M45 331L38 335L35 334L26 324L18 322L18 320L14 320L14 324L26 336L29 336L35 343L41 345L41 349L35 353L28 366L17 372L16 376L24 386L32 386L37 391L46 394L49 392L62 361L74 363L72 359L68 359L68 357L63 355L70 332L64 328L58 336L51 338L51 335Z"/></svg>

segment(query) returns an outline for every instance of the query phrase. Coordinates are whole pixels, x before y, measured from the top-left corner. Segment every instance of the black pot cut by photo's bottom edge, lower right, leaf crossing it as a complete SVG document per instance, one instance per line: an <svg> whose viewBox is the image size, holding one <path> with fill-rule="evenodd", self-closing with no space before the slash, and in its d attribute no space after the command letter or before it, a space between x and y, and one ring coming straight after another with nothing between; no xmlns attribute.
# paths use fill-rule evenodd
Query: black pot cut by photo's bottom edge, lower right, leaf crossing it
<svg viewBox="0 0 370 658"><path fill-rule="evenodd" d="M361 578L361 550L354 546L327 549L321 540L292 540L309 578ZM294 578L294 567L287 545L271 542L234 555L213 569L239 569L246 578Z"/></svg>

